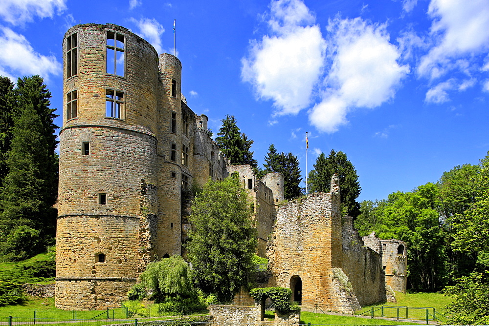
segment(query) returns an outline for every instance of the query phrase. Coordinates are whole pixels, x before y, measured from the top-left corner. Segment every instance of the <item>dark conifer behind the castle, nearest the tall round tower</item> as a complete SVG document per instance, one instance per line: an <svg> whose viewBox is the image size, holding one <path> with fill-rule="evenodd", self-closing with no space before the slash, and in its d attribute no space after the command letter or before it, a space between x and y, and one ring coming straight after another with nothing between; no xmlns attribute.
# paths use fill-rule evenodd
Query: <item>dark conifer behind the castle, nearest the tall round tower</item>
<svg viewBox="0 0 489 326"><path fill-rule="evenodd" d="M253 141L240 131L234 116L228 114L226 119L222 120L218 136L216 143L232 165L249 164L254 168L258 166L256 160L253 159L253 152L250 151Z"/></svg>

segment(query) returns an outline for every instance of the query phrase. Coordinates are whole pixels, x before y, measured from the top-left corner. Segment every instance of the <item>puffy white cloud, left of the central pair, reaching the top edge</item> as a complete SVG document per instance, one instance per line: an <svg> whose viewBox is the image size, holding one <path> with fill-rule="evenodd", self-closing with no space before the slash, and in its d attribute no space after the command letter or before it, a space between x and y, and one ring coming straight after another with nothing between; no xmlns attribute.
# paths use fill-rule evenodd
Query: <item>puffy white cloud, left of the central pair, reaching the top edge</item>
<svg viewBox="0 0 489 326"><path fill-rule="evenodd" d="M297 114L311 103L326 50L314 20L302 1L272 1L268 25L273 35L251 41L249 56L242 59L243 80L258 98L272 100L279 115Z"/></svg>

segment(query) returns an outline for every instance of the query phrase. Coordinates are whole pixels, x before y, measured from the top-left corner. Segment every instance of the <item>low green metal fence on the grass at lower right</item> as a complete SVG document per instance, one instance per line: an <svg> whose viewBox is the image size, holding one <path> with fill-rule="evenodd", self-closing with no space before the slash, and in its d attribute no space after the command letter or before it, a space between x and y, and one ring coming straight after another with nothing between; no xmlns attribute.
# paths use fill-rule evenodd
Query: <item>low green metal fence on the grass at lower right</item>
<svg viewBox="0 0 489 326"><path fill-rule="evenodd" d="M396 318L396 320L406 319L406 320L416 320L426 322L429 321L439 321L446 323L448 318L438 311L434 307L408 307L408 306L376 306L371 307L356 316L370 316L374 317L387 317Z"/></svg>

